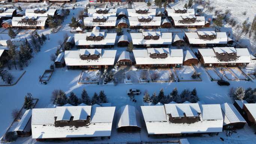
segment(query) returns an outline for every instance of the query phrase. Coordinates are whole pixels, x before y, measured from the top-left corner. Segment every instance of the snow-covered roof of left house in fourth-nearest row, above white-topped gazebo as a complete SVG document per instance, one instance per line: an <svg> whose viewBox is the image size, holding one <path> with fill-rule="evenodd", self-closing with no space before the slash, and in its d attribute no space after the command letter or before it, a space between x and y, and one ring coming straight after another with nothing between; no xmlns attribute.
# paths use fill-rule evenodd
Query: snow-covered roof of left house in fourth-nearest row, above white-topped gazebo
<svg viewBox="0 0 256 144"><path fill-rule="evenodd" d="M93 19L98 18L98 19L106 19L105 22L93 22ZM94 17L84 17L83 18L83 22L85 26L89 26L89 27L95 27L95 26L99 26L99 27L115 27L116 26L116 19L117 17L113 17L113 16L94 16Z"/></svg>

